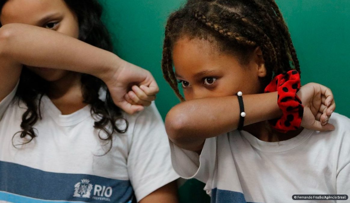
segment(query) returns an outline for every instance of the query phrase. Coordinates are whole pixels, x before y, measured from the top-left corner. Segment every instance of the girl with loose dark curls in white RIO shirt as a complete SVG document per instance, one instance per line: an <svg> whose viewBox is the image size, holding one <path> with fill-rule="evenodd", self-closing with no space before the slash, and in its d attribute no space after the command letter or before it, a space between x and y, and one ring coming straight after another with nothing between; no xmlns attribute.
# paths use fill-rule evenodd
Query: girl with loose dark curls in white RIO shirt
<svg viewBox="0 0 350 203"><path fill-rule="evenodd" d="M111 52L101 14L0 1L0 202L177 202L158 86Z"/></svg>

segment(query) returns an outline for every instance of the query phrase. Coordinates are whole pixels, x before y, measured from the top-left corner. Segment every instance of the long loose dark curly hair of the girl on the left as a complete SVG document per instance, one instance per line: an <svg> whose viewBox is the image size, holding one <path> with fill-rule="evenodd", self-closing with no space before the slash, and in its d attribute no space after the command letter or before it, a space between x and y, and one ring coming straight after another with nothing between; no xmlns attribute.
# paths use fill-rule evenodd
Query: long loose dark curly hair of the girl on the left
<svg viewBox="0 0 350 203"><path fill-rule="evenodd" d="M0 1L0 11L7 0ZM89 43L95 47L113 51L113 45L110 35L101 21L102 6L97 0L64 0L68 7L77 15L79 23L78 39ZM1 24L0 24L1 27ZM21 138L27 138L27 144L36 137L33 128L34 124L41 118L40 103L41 98L48 92L47 81L23 68L20 76L20 83L16 92L16 97L22 100L27 105L27 110L23 113L21 128L18 132ZM94 128L104 131L107 137L99 134L99 138L109 141L108 153L112 148L113 133L125 133L128 128L128 122L123 118L121 110L113 103L110 92L106 84L99 78L92 75L81 75L83 102L91 105L91 115L99 115L99 118L93 116L96 120ZM99 98L99 91L106 92L104 99ZM37 99L39 98L39 102ZM125 129L119 129L116 121L124 120L126 122ZM101 132L100 131L100 132ZM16 133L16 134L18 134ZM14 135L15 136L15 135Z"/></svg>

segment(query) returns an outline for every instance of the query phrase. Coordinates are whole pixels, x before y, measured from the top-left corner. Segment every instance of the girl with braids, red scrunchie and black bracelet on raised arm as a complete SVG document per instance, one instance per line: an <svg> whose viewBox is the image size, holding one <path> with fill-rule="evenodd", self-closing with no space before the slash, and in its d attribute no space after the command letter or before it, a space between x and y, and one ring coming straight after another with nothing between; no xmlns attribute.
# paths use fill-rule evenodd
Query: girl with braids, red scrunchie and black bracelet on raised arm
<svg viewBox="0 0 350 203"><path fill-rule="evenodd" d="M274 0L189 0L167 21L162 71L183 101L165 121L173 166L212 202L350 194L350 120L327 87L300 86Z"/></svg>

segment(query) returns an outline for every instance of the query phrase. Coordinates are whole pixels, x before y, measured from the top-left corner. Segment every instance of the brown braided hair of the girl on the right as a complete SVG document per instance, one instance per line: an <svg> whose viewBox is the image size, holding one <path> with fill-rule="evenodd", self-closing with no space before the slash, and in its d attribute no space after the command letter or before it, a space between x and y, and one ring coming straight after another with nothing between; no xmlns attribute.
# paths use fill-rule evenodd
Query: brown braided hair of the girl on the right
<svg viewBox="0 0 350 203"><path fill-rule="evenodd" d="M267 69L261 80L264 87L274 75L292 69L300 73L292 39L274 0L188 0L168 18L162 57L163 76L182 101L172 50L183 36L215 42L220 51L234 54L242 64L260 47Z"/></svg>

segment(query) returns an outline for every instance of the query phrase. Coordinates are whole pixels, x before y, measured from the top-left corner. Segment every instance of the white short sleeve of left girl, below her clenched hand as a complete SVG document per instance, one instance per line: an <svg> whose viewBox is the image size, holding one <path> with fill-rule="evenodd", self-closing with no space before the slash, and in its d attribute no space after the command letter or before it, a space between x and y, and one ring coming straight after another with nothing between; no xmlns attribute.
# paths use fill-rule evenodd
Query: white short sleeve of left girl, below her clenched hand
<svg viewBox="0 0 350 203"><path fill-rule="evenodd" d="M154 102L135 121L127 167L137 201L179 178L170 161L168 137Z"/></svg>

